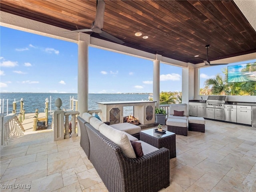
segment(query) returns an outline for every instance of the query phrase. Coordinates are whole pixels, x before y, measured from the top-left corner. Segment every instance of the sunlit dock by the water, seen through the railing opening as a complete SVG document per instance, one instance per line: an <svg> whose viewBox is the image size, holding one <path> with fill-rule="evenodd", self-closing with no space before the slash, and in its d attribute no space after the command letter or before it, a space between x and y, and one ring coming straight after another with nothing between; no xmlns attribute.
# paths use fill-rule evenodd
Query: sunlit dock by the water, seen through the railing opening
<svg viewBox="0 0 256 192"><path fill-rule="evenodd" d="M33 132L33 117L35 116L35 113L25 113L25 119L22 122L22 125L25 129L25 133L27 132ZM50 115L49 115L50 116ZM45 113L38 113L38 118L45 118ZM51 122L49 124L48 122L48 126L47 128L38 128L36 131L41 131L41 130L51 130Z"/></svg>

